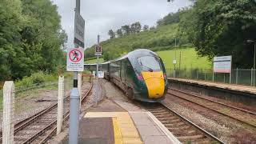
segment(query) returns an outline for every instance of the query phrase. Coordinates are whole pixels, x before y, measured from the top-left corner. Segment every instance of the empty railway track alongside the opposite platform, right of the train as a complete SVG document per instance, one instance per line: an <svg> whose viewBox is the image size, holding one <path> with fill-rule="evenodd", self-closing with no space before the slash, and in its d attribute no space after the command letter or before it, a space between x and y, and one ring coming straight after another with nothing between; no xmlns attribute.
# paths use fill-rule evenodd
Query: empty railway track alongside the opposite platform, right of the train
<svg viewBox="0 0 256 144"><path fill-rule="evenodd" d="M250 110L244 110L236 106L227 105L222 102L216 102L209 98L203 98L196 94L190 94L181 90L169 89L168 94L176 98L181 98L187 102L192 102L198 106L202 106L228 118L232 118L237 122L245 124L246 126L256 128L256 113Z"/></svg>

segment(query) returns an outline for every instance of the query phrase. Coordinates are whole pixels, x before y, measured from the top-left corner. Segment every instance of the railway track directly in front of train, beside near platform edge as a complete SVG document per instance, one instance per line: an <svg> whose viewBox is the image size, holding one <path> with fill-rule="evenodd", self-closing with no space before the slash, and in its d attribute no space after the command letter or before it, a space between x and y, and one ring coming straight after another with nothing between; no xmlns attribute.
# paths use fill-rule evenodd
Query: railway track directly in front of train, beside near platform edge
<svg viewBox="0 0 256 144"><path fill-rule="evenodd" d="M178 140L182 143L224 143L197 126L190 120L182 117L182 115L171 110L166 104L158 103L146 106L149 110Z"/></svg>

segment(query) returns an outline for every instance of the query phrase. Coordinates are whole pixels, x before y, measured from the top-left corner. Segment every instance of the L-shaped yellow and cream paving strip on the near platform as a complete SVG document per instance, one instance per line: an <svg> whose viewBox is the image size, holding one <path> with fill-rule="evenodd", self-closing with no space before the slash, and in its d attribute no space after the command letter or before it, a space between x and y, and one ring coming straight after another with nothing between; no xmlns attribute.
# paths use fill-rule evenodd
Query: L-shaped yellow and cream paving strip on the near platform
<svg viewBox="0 0 256 144"><path fill-rule="evenodd" d="M89 112L84 118L112 118L116 144L143 143L128 112ZM120 138L120 135L122 138Z"/></svg>

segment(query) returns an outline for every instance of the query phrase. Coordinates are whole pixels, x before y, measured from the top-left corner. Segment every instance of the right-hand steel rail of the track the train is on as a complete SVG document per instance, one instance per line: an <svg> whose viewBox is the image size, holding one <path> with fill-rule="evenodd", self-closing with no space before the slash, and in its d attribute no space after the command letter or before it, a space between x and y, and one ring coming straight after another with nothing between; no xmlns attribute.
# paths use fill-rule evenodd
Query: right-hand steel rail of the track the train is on
<svg viewBox="0 0 256 144"><path fill-rule="evenodd" d="M170 110L173 114L175 114L176 116L178 116L179 118L181 118L183 121L188 122L191 126L194 126L194 128L196 128L197 130L201 131L203 134L206 135L206 137L208 138L212 138L214 139L214 141L219 142L224 144L225 142L223 142L222 140L220 140L219 138L215 137L213 134L210 134L208 131L202 129L202 127L196 125L194 122L191 122L189 119L183 117L181 114L178 114L176 111L171 110L168 106L166 106L166 104L164 104L163 102L159 102L161 104L161 106L165 107L167 110Z"/></svg>

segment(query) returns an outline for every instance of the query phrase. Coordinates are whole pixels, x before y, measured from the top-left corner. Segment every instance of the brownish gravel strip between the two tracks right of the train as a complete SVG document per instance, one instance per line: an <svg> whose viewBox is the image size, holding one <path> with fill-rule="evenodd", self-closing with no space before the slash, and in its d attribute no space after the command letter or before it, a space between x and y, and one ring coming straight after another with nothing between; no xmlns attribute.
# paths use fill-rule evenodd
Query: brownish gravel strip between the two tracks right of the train
<svg viewBox="0 0 256 144"><path fill-rule="evenodd" d="M250 143L255 142L255 139L253 138L253 131L248 129L246 130L244 126L234 122L230 118L223 117L220 114L215 114L210 110L202 108L201 106L195 106L194 104L185 102L182 99L171 97L168 94L164 102L168 104L171 109L177 111L178 114L182 114L182 116L190 119L198 126L202 126L205 130L222 139L224 142L240 143L238 140L241 140L243 143L246 139L249 139ZM239 138L237 135L239 134L239 131L246 134L246 138L242 138L243 140Z"/></svg>

